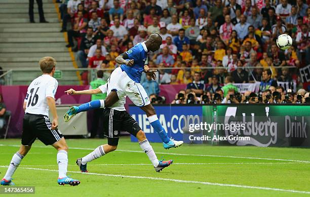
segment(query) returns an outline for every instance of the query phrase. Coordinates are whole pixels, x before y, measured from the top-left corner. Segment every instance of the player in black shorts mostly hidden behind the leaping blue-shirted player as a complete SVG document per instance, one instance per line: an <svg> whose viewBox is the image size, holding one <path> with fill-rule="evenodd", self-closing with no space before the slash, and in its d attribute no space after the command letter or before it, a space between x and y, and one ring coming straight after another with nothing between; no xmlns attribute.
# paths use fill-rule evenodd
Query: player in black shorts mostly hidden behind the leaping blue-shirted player
<svg viewBox="0 0 310 197"><path fill-rule="evenodd" d="M83 90L75 91L73 89L67 90L68 94L100 94L111 92L110 82L107 84L99 86L97 89L93 90ZM81 172L87 171L87 163L91 162L99 157L107 154L108 152L114 151L118 147L119 138L121 131L127 131L131 135L135 136L141 149L148 156L148 159L153 164L156 172L160 172L164 168L170 166L173 160L169 161L159 161L157 156L145 137L144 132L141 130L139 124L133 119L133 117L126 111L124 103L126 100L126 95L120 97L112 107L106 107L103 111L103 133L107 137L107 144L98 146L94 151L87 154L86 156L76 160L76 164L80 167Z"/></svg>

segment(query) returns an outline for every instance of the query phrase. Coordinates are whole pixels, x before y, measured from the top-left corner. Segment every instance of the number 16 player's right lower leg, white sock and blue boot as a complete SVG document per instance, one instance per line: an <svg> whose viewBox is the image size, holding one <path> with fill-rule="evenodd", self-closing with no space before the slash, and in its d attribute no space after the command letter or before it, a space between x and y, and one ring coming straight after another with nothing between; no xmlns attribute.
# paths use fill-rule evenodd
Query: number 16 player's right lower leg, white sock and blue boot
<svg viewBox="0 0 310 197"><path fill-rule="evenodd" d="M60 140L55 142L54 146L57 152L57 163L58 163L58 180L59 185L79 185L80 181L72 179L67 176L67 167L68 167L68 146L65 139L62 137Z"/></svg>

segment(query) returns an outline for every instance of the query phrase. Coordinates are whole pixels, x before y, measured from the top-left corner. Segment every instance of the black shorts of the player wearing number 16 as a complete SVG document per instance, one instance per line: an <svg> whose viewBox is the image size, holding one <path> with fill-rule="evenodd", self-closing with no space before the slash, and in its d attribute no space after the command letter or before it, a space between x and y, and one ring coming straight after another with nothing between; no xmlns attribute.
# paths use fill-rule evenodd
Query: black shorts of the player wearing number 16
<svg viewBox="0 0 310 197"><path fill-rule="evenodd" d="M50 119L46 115L26 113L23 120L22 145L30 146L36 138L45 145L51 145L63 136L58 129L52 130Z"/></svg>

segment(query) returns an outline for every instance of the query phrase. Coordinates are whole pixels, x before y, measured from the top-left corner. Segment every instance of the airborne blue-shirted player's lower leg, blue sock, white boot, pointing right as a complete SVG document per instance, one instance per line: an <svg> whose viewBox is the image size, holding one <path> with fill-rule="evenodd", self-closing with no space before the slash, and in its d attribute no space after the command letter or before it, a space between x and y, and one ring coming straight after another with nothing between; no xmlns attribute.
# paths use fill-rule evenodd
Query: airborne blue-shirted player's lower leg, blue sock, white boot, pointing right
<svg viewBox="0 0 310 197"><path fill-rule="evenodd" d="M149 123L163 140L163 146L165 149L176 148L183 144L183 141L176 141L172 138L168 138L167 132L158 120L155 109L151 104L145 105L141 107L141 109L145 111Z"/></svg>

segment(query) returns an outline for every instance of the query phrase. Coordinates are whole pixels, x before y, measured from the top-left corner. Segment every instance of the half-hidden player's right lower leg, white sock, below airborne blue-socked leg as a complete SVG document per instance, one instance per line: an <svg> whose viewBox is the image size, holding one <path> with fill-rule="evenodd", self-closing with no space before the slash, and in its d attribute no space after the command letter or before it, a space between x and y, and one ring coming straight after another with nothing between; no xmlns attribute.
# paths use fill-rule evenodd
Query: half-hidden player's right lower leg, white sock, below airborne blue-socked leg
<svg viewBox="0 0 310 197"><path fill-rule="evenodd" d="M142 130L140 130L137 133L136 138L139 141L139 145L140 145L141 149L143 150L143 152L145 152L147 154L149 161L151 161L151 163L153 164L156 172L160 172L161 170L163 170L164 168L166 168L172 164L173 160L159 161L157 159L157 156L156 156L152 146L149 144L149 142L146 139L145 134Z"/></svg>

